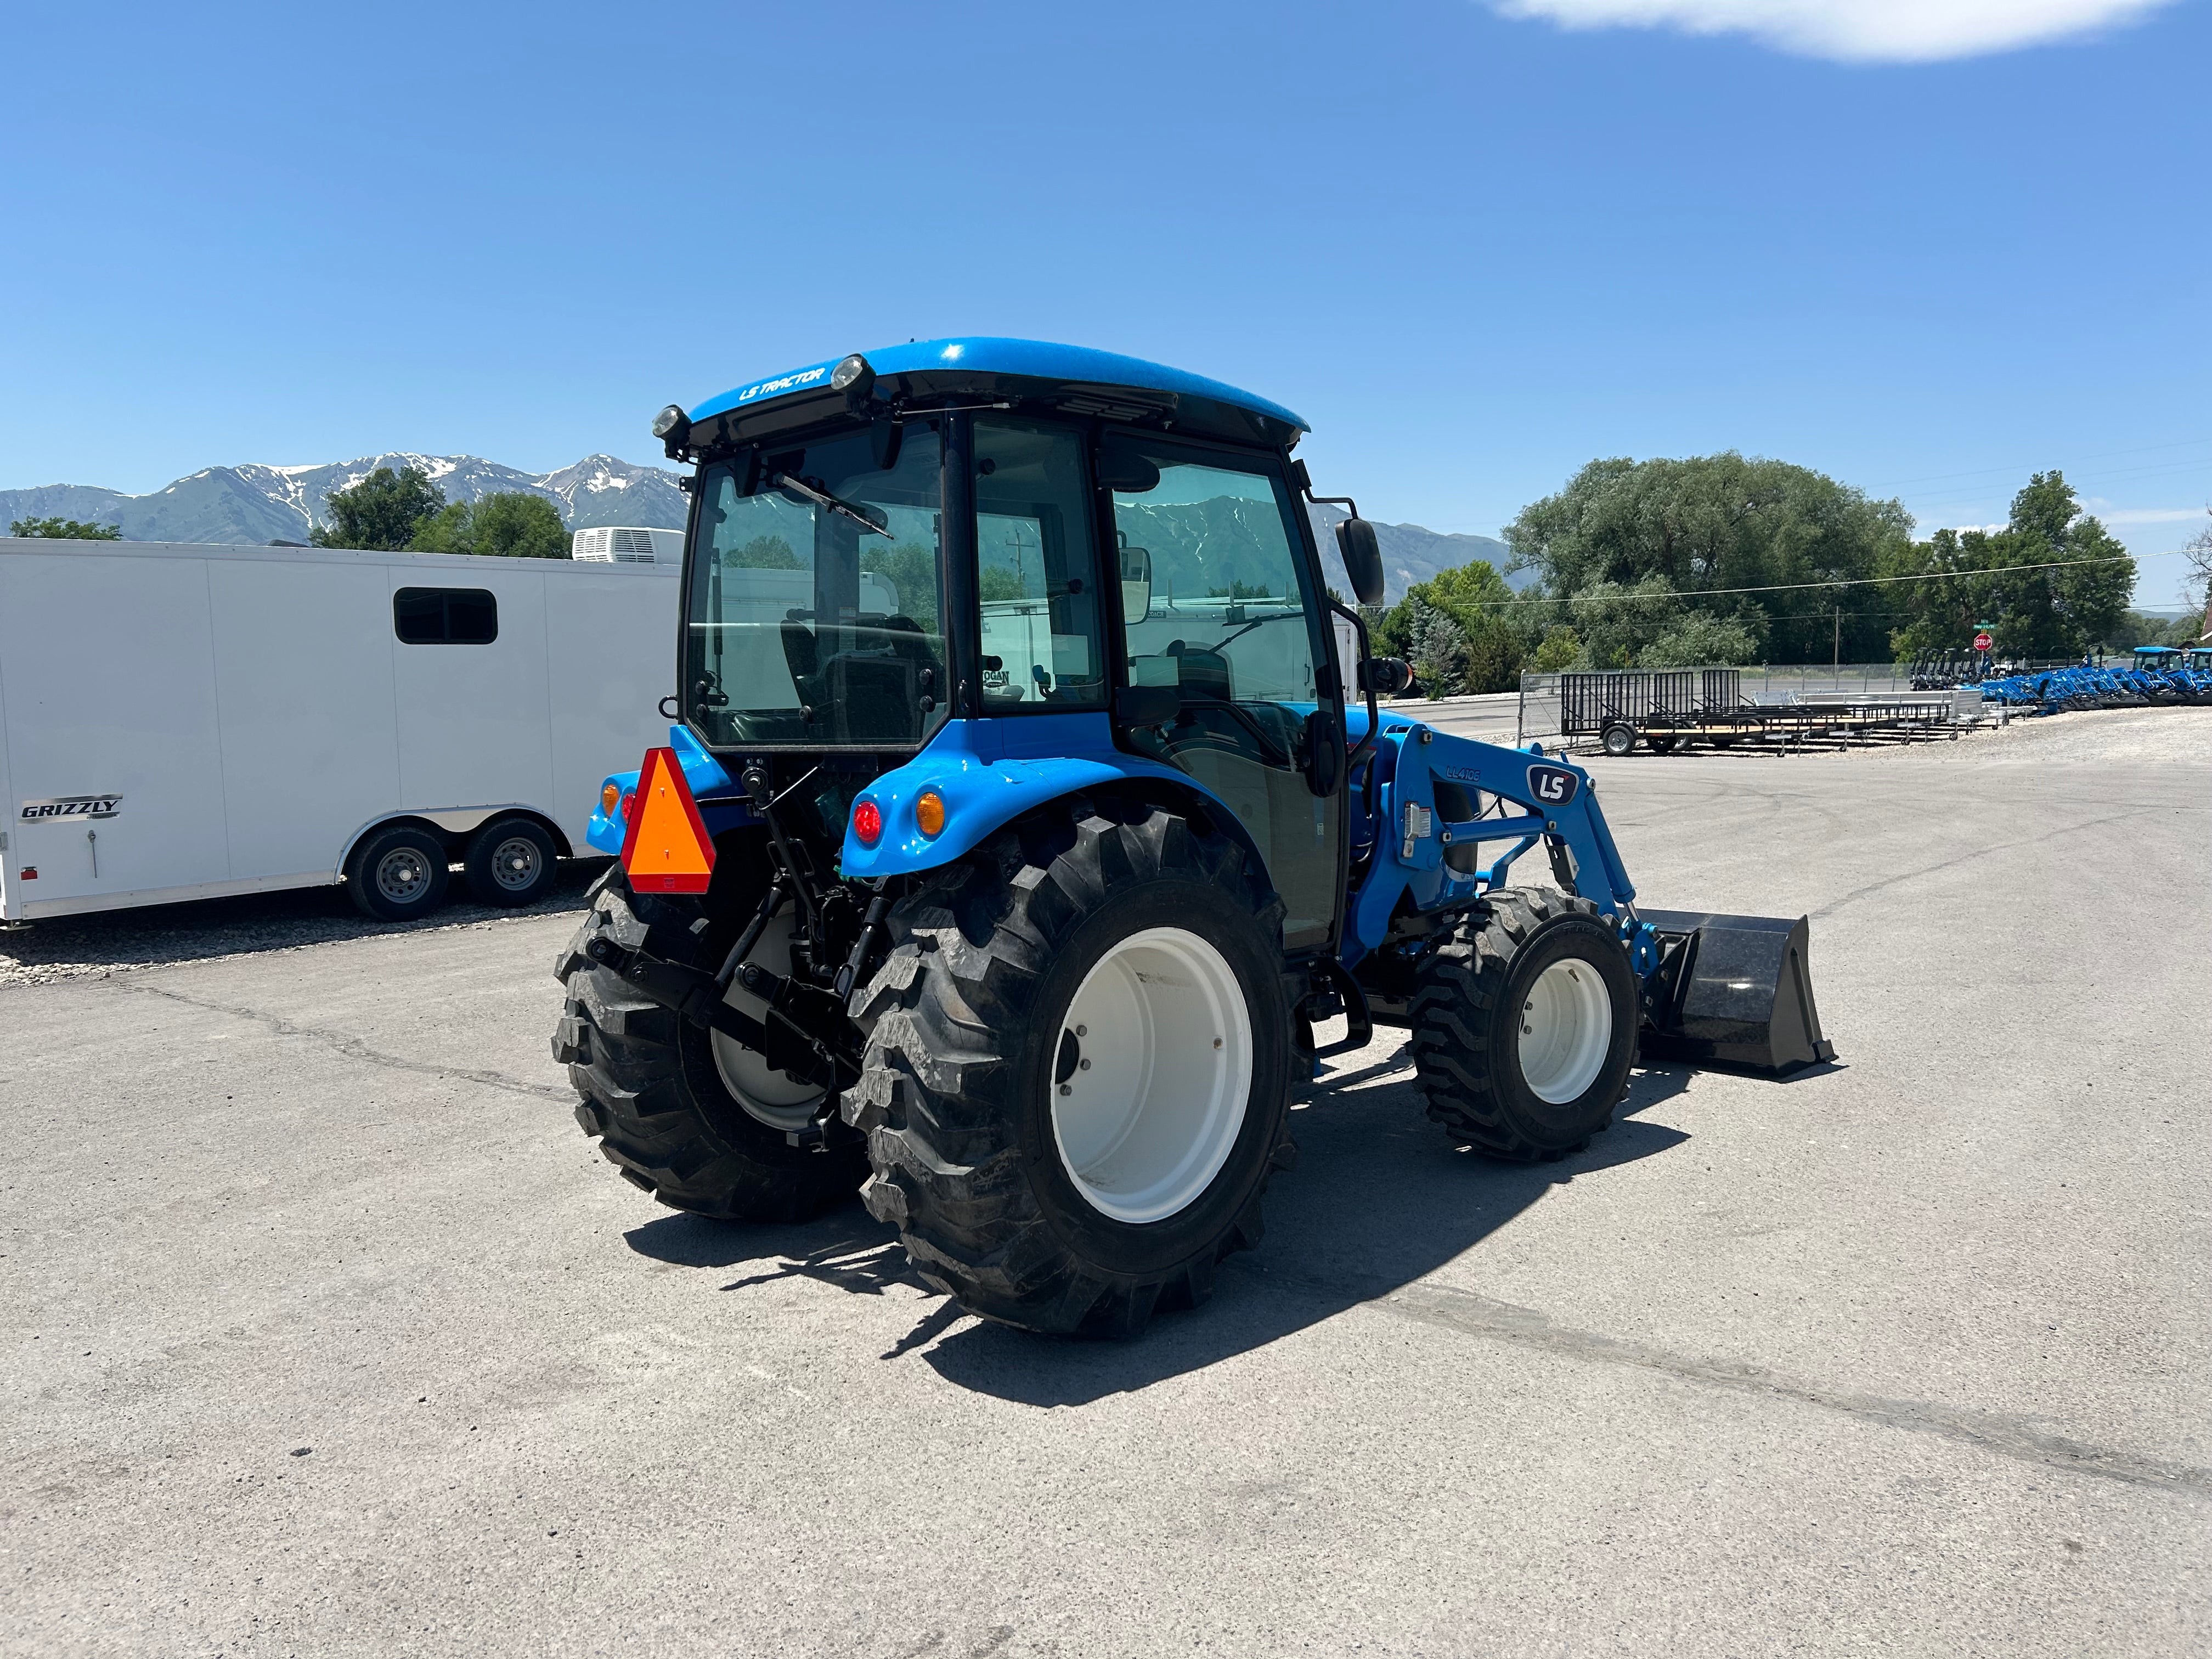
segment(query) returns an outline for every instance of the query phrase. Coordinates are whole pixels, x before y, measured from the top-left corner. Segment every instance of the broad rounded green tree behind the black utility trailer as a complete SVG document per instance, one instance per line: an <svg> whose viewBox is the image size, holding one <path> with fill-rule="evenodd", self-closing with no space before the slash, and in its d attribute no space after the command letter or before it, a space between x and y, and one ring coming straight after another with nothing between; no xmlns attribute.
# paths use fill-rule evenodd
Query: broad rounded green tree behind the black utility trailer
<svg viewBox="0 0 2212 1659"><path fill-rule="evenodd" d="M1911 529L1898 502L1871 500L1809 467L1728 451L1593 460L1557 495L1524 507L1504 540L1513 549L1509 568L1537 571L1542 595L1599 602L1526 606L1524 626L1535 617L1568 624L1584 639L1588 666L1621 668L1661 637L1681 641L1679 648L1703 641L1743 653L1732 657L1741 661L1827 661L1832 624L1812 615L1818 606L1807 604L1805 588L1703 593L1801 582L1845 584L1818 595L1847 613L1845 657L1887 657L1882 622L1849 615L1885 606L1858 602L1869 591L1854 593L1847 584L1876 575L1909 549ZM1721 617L1732 628L1681 633L1690 613Z"/></svg>

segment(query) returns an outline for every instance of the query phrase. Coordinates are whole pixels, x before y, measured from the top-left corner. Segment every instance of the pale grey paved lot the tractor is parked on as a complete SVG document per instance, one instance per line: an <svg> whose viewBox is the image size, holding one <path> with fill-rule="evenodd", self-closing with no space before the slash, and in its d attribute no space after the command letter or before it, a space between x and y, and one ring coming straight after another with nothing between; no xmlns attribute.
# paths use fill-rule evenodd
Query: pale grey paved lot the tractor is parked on
<svg viewBox="0 0 2212 1659"><path fill-rule="evenodd" d="M1646 902L1812 916L1838 1064L1515 1168L1383 1031L1128 1345L626 1186L575 885L0 938L0 1646L2203 1652L2212 710L1590 770Z"/></svg>

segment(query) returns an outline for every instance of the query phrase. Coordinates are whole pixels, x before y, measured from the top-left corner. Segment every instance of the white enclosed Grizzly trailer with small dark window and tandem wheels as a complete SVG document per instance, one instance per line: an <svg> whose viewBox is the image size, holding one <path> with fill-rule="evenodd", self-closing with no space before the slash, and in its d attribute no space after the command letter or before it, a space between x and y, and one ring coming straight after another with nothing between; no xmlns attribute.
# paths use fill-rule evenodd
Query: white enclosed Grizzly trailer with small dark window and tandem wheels
<svg viewBox="0 0 2212 1659"><path fill-rule="evenodd" d="M0 920L529 902L666 741L679 571L0 538Z"/></svg>

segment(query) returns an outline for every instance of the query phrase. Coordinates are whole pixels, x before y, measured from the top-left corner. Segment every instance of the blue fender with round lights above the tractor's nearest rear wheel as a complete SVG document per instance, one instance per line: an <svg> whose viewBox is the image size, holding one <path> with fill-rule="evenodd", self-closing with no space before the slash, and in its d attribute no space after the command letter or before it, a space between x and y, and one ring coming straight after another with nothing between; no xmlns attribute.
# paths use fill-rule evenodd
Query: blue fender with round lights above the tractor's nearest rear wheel
<svg viewBox="0 0 2212 1659"><path fill-rule="evenodd" d="M1237 814L1197 779L1117 750L1104 712L1013 714L947 721L920 754L860 790L854 810L872 801L883 814L883 834L869 847L847 818L838 869L867 878L942 869L1024 812L1117 783L1135 783L1155 799L1212 803L1223 832L1256 856ZM933 836L916 818L925 792L945 801L945 827Z"/></svg>

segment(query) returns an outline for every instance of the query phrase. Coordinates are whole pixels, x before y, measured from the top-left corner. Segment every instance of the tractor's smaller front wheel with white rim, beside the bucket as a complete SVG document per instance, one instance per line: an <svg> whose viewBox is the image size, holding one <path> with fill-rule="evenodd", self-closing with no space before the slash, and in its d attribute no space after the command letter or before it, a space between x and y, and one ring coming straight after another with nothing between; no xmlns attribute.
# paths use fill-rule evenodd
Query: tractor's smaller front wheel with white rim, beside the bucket
<svg viewBox="0 0 2212 1659"><path fill-rule="evenodd" d="M1579 1152L1628 1091L1637 989L1588 898L1502 891L1420 958L1413 1066L1429 1117L1502 1159Z"/></svg>

